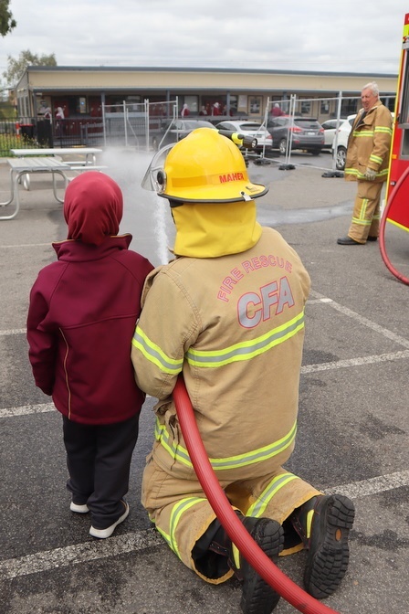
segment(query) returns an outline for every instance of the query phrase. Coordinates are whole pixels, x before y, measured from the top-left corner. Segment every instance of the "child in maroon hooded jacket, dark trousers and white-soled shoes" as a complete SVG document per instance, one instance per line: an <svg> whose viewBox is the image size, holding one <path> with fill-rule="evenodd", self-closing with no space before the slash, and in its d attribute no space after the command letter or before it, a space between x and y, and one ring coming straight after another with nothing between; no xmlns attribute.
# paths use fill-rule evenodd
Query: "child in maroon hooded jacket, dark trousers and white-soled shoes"
<svg viewBox="0 0 409 614"><path fill-rule="evenodd" d="M72 512L90 511L94 537L112 535L129 513L131 455L144 394L131 365L131 338L151 262L118 235L122 194L89 171L68 185L68 239L40 270L27 317L36 385L62 414Z"/></svg>

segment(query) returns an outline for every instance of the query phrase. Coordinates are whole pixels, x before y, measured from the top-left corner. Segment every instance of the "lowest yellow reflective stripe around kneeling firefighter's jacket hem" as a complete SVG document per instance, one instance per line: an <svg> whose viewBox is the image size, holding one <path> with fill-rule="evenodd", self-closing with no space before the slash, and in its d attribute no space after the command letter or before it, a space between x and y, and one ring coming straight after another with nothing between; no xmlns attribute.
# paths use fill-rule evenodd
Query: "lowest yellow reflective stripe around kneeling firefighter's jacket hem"
<svg viewBox="0 0 409 614"><path fill-rule="evenodd" d="M157 420L156 428L156 439L161 442L163 448L170 454L170 456L181 462L186 467L193 467L192 461L189 457L189 452L180 444L176 444L172 439L165 427L165 425L161 425ZM244 454L238 454L237 456L227 457L225 459L209 459L210 463L214 469L214 471L226 471L228 469L237 469L240 467L246 467L247 465L252 465L257 462L262 462L263 460L271 459L274 456L277 456L280 452L287 450L288 447L293 443L297 434L297 421L294 422L292 428L289 430L287 435L278 439L278 441L274 441L273 443L264 446L263 448L258 448L257 450L250 450L245 452Z"/></svg>

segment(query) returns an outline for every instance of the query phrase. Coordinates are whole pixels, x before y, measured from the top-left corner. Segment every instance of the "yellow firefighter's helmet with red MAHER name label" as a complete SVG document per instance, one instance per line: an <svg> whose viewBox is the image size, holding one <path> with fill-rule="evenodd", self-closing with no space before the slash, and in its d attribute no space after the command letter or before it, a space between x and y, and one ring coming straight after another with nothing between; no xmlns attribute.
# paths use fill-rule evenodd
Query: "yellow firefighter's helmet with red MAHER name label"
<svg viewBox="0 0 409 614"><path fill-rule="evenodd" d="M233 203L267 194L253 184L238 147L212 128L197 128L176 143L156 177L158 195L179 203Z"/></svg>

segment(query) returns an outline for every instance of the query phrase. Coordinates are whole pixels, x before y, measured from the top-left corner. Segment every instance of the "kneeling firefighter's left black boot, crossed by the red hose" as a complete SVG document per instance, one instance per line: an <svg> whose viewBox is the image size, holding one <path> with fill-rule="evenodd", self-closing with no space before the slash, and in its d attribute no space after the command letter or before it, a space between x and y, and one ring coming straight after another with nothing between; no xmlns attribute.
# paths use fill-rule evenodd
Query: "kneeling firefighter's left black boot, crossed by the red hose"
<svg viewBox="0 0 409 614"><path fill-rule="evenodd" d="M238 515L238 514L237 514ZM277 563L278 554L283 549L283 528L275 520L269 518L252 518L239 515L241 522L248 533L257 542L268 558ZM236 545L225 534L218 532L217 539L211 545L211 549L228 556L228 564L235 572L236 577L242 582L242 598L240 607L244 614L270 614L278 604L280 596L271 588L262 577L258 576L253 567L241 556ZM220 547L222 546L222 547Z"/></svg>

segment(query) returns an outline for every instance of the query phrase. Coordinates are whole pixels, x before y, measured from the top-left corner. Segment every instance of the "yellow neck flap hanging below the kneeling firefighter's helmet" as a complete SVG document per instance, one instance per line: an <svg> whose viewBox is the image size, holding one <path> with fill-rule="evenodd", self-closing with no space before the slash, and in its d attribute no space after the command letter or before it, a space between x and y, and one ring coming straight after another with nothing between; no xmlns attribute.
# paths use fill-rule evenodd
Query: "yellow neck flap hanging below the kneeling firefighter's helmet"
<svg viewBox="0 0 409 614"><path fill-rule="evenodd" d="M184 203L172 209L176 226L174 254L191 258L218 258L238 254L256 245L261 226L256 203Z"/></svg>

